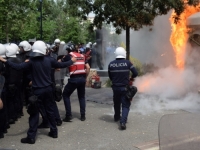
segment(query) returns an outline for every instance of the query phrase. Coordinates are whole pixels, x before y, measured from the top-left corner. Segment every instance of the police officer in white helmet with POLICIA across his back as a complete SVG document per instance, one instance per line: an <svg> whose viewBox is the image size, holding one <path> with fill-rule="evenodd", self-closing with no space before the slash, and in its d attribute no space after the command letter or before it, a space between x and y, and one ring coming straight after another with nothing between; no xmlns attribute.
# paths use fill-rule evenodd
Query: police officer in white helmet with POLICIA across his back
<svg viewBox="0 0 200 150"><path fill-rule="evenodd" d="M118 47L115 50L116 60L113 60L108 65L108 75L112 81L113 102L114 102L114 120L120 120L122 130L126 129L127 117L131 102L125 97L126 86L129 85L129 73L132 72L131 79L135 78L138 73L133 64L126 60L126 51L123 47ZM122 116L121 115L122 106Z"/></svg>

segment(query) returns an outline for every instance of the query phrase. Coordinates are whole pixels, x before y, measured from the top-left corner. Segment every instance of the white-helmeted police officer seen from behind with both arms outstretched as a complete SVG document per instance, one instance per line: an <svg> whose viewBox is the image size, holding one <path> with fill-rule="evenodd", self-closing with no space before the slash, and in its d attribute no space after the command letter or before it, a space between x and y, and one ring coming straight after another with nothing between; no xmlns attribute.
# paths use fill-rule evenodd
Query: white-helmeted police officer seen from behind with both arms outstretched
<svg viewBox="0 0 200 150"><path fill-rule="evenodd" d="M34 97L36 97L35 105L39 107L40 103L42 103L45 107L50 126L50 132L48 135L52 138L57 138L58 131L52 107L54 99L52 95L51 68L68 67L76 61L76 58L73 57L68 62L59 63L55 59L46 55L46 49L46 44L43 41L36 41L32 46L33 52L30 54L28 62L16 64L3 59L2 57L0 57L0 60L18 70L30 68L33 93L35 95ZM35 111L29 110L29 113L30 117L27 137L22 138L21 143L34 144L39 123L39 111L37 109Z"/></svg>

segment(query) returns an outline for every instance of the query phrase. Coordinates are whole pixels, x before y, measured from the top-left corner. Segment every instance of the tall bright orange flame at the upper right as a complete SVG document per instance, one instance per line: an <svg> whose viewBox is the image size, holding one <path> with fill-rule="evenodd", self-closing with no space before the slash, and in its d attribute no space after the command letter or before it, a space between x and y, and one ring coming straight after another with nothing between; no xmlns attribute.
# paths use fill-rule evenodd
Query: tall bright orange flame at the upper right
<svg viewBox="0 0 200 150"><path fill-rule="evenodd" d="M189 38L188 31L189 28L187 28L186 21L187 18L196 13L199 12L199 6L186 6L185 11L180 15L180 21L175 24L173 16L175 15L175 12L173 11L170 17L170 22L172 26L172 34L170 37L170 42L172 44L172 47L175 51L176 55L176 66L179 69L184 68L184 62L185 62L185 53L186 53L186 43Z"/></svg>

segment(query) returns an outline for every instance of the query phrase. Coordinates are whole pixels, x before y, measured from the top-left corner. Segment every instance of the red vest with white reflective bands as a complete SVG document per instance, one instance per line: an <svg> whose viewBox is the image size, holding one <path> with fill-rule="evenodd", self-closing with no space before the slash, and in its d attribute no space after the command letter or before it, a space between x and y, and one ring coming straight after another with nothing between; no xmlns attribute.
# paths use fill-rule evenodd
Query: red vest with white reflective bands
<svg viewBox="0 0 200 150"><path fill-rule="evenodd" d="M70 52L71 56L75 57L77 61L69 67L69 73L72 74L85 74L85 57L84 55L76 52Z"/></svg>

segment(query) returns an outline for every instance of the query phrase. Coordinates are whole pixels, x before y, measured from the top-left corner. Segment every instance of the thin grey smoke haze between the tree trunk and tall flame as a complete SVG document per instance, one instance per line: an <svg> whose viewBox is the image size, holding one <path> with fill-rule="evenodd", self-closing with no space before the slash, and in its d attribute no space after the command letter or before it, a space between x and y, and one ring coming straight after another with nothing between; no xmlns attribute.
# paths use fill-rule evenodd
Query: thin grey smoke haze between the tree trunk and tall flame
<svg viewBox="0 0 200 150"><path fill-rule="evenodd" d="M130 55L144 63L153 63L158 67L175 65L175 55L170 43L171 13L159 16L151 27L131 31ZM122 36L125 42L125 35Z"/></svg>

